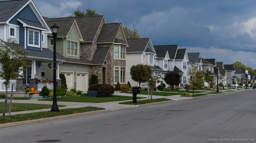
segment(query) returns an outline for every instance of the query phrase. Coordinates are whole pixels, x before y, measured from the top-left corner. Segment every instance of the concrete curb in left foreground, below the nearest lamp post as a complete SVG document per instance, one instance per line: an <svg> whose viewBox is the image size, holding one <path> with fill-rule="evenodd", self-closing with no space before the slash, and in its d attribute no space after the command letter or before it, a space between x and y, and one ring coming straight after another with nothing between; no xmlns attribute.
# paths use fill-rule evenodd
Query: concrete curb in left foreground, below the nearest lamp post
<svg viewBox="0 0 256 143"><path fill-rule="evenodd" d="M105 110L97 110L97 111L91 111L91 112L83 112L83 113L77 113L77 114L69 114L69 115L63 115L63 116L42 118L42 119L36 119L36 120L5 123L5 124L0 124L0 129L1 128L6 128L6 127L19 126L19 125L28 125L28 124L32 124L32 123L41 123L41 122L61 120L61 119L67 119L67 118L74 118L74 117L80 117L80 116L92 115L92 114L98 114L98 113L104 113L104 112L110 112L110 111L112 111L112 110L105 109Z"/></svg>

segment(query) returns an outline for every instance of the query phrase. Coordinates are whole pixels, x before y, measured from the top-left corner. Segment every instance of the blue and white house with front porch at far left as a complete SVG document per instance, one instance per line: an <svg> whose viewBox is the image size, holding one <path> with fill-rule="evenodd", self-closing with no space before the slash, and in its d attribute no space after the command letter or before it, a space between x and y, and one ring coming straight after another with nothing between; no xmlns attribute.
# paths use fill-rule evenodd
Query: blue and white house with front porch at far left
<svg viewBox="0 0 256 143"><path fill-rule="evenodd" d="M25 94L25 86L40 91L42 83L36 83L35 79L42 77L40 63L53 61L53 52L47 48L47 34L50 34L51 30L32 0L0 1L0 5L3 8L0 11L1 41L17 41L29 52L27 60L31 63L23 70L24 83L22 77L11 81L15 85L14 91L19 92L19 96ZM58 64L63 61L65 60L62 57L57 56ZM3 81L4 79L0 80L0 91L5 91ZM8 88L8 91L10 90L11 88Z"/></svg>

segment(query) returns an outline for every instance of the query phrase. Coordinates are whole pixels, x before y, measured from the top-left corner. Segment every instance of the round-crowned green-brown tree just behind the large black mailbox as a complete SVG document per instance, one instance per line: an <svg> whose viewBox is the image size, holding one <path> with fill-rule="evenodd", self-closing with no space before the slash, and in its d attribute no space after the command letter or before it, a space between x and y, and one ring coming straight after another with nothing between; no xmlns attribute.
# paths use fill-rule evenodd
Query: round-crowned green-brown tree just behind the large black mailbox
<svg viewBox="0 0 256 143"><path fill-rule="evenodd" d="M150 66L143 64L133 65L131 66L130 75L131 79L139 83L139 86L141 86L142 82L147 82L150 78Z"/></svg>

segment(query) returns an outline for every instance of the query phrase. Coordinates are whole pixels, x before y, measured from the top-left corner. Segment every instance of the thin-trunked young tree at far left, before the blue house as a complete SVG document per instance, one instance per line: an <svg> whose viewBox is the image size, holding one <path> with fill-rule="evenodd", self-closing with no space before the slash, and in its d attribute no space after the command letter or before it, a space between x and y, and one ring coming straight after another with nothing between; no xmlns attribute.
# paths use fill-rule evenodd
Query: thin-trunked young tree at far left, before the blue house
<svg viewBox="0 0 256 143"><path fill-rule="evenodd" d="M5 84L6 87L3 116L5 116L7 103L7 86L11 79L21 77L19 73L23 71L23 67L27 67L28 65L28 61L26 61L27 55L28 52L25 51L20 44L16 43L16 41L8 39L7 42L0 42L0 63L2 63L0 77L5 79L3 84Z"/></svg>

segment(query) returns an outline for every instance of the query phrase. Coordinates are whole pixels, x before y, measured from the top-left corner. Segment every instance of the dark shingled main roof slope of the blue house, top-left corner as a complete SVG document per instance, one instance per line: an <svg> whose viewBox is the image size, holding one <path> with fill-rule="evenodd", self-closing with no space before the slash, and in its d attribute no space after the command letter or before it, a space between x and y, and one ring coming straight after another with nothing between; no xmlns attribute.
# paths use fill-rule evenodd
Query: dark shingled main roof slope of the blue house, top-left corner
<svg viewBox="0 0 256 143"><path fill-rule="evenodd" d="M6 22L29 0L0 1L0 22Z"/></svg>

